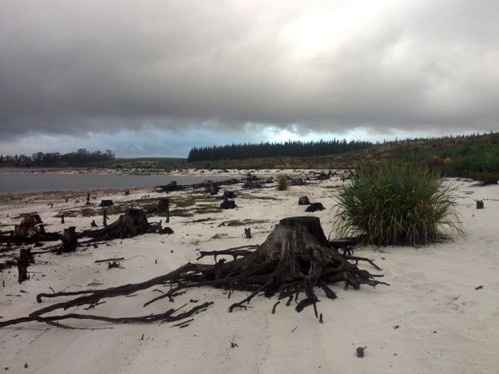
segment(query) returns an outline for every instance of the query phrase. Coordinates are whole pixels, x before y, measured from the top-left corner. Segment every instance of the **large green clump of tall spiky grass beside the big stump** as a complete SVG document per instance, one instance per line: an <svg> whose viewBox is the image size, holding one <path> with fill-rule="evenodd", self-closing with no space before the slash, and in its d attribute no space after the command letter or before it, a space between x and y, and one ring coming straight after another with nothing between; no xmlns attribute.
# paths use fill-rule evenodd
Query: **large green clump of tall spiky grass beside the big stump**
<svg viewBox="0 0 499 374"><path fill-rule="evenodd" d="M425 167L384 162L361 165L336 194L335 229L363 244L403 245L464 236L453 204L455 187Z"/></svg>

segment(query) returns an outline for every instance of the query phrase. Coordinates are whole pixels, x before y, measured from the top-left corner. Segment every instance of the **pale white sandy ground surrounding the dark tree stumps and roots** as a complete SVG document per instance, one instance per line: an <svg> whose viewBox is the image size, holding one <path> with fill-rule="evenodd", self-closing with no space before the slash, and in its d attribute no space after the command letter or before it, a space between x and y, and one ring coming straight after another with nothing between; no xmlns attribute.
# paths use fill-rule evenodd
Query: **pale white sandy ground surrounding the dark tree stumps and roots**
<svg viewBox="0 0 499 374"><path fill-rule="evenodd" d="M334 301L317 291L324 324L317 321L312 308L296 313L292 307L279 305L272 314L275 300L264 296L254 298L247 311L228 313L227 307L246 294L236 292L227 299L224 291L209 288L192 289L173 304L163 300L143 308L145 301L158 296L149 289L134 297L108 299L92 312L139 316L160 313L190 299L215 303L186 328L172 327L172 323L113 325L97 321L67 321L74 327L98 328L93 330L65 330L42 323L0 328L0 370L47 374L499 373L499 187L451 182L459 188L457 204L467 237L417 248L357 249L356 255L367 256L384 269L384 280L391 286L344 291L337 284L332 287L339 296ZM0 316L4 321L26 316L52 303L37 304L35 300L36 294L50 292L49 287L78 291L91 288L88 284L110 287L145 281L195 261L199 250L259 244L279 219L306 215L304 207L297 205L298 197L304 195L327 208L313 214L321 218L327 235L332 192L339 184L334 177L282 192L274 188L239 192L237 209L174 217L169 226L175 233L170 236L147 234L73 254L41 254L29 268L34 272L31 279L21 285L16 269L0 273L0 283L5 283L0 287ZM237 193L239 189L236 185ZM145 194L159 195L140 189L129 196L115 192L109 198L120 201ZM68 207L75 206L77 195L72 195ZM101 197L108 198L97 196ZM475 199L483 199L485 209L475 209ZM93 217L67 217L66 223L60 224L54 215L65 207L58 194L4 199L0 229L11 228L19 222L13 217L29 212L41 215L47 231L90 227ZM189 223L207 217L212 221ZM100 224L101 218L95 218ZM115 218L110 217L111 221ZM150 217L151 221L159 219ZM247 225L254 237L243 238L245 226L218 227L232 219L258 220ZM219 239L213 238L216 234ZM96 259L113 256L127 261L121 262L120 269L94 264ZM368 264L363 266L369 269ZM237 346L232 348L231 343ZM356 357L359 346L366 347L364 358Z"/></svg>

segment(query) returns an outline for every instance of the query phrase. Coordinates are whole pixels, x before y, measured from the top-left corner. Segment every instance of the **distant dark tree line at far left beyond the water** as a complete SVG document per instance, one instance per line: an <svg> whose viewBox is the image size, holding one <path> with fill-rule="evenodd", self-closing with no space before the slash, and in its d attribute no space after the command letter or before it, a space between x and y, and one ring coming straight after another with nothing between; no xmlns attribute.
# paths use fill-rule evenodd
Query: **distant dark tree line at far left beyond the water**
<svg viewBox="0 0 499 374"><path fill-rule="evenodd" d="M89 151L85 148L80 148L76 152L64 153L61 155L59 152L36 152L31 156L26 155L0 155L0 164L8 164L15 166L57 166L57 165L83 165L90 162L101 162L114 160L115 155L112 150Z"/></svg>

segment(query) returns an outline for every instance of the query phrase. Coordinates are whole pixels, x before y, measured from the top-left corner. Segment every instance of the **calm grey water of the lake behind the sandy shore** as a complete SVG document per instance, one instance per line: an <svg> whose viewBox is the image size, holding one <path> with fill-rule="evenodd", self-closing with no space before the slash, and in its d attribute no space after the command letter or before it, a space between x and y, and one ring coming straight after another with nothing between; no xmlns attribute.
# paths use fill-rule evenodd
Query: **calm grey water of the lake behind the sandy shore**
<svg viewBox="0 0 499 374"><path fill-rule="evenodd" d="M154 187L175 180L179 185L204 180L225 180L224 177L182 177L170 175L113 175L113 174L34 174L0 170L0 194L71 189L106 189Z"/></svg>

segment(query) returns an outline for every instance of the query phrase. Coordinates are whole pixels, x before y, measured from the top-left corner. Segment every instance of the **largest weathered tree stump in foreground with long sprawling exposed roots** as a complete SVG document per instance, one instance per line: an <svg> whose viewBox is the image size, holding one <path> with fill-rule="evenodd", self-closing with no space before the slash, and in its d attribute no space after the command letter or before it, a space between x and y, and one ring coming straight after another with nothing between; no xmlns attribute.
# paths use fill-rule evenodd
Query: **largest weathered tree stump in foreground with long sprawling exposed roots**
<svg viewBox="0 0 499 374"><path fill-rule="evenodd" d="M313 306L314 314L316 318L319 318L317 312L319 298L314 293L314 287L319 287L324 291L326 297L334 299L336 294L329 288L329 284L339 281L344 281L345 289L348 289L349 286L359 289L361 284L368 284L373 287L378 284L386 284L376 281L374 275L371 275L369 271L361 270L356 264L352 264L349 261L349 256L344 256L335 249L331 249L318 217L282 219L274 227L274 231L259 246L243 246L223 251L201 251L200 258L204 256L214 256L215 264L187 263L163 276L157 276L138 284L125 284L110 289L38 294L36 296L38 302L41 302L42 298L76 297L38 309L27 317L0 321L0 327L29 321L61 321L68 318L93 319L115 323L173 321L167 316L172 316L178 309L170 309L166 313L156 315L126 318L111 318L80 313L47 316L47 313L67 310L68 308L83 305L97 306L103 298L135 294L138 291L150 289L159 284L169 284L170 289L168 291L165 289L164 294L153 298L144 306L163 298L174 301L175 296L184 294L187 289L199 286L213 286L228 289L229 295L233 295L233 291L236 290L250 292L249 296L242 299L242 301L232 303L229 307L231 312L235 308L247 308L245 304L249 303L254 296L264 294L267 297L278 295L279 300L284 298L288 300L295 299L298 312L303 311L307 306ZM217 261L217 256L232 256L233 260L220 259ZM299 294L305 296L300 301L298 301ZM181 318L192 316L196 311L204 310L210 304L211 302L205 303L202 307L193 308L177 315L175 318L180 319L178 316L181 316Z"/></svg>

